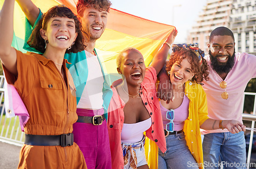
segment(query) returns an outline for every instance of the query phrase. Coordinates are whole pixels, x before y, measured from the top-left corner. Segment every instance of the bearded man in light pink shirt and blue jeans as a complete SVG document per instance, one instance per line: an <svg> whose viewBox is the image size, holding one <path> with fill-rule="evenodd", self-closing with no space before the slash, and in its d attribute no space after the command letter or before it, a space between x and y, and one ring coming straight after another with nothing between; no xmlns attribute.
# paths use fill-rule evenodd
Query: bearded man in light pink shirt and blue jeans
<svg viewBox="0 0 256 169"><path fill-rule="evenodd" d="M209 80L203 81L208 102L208 117L242 122L243 95L248 81L256 77L256 56L235 53L234 36L227 27L211 32L205 58L210 65ZM220 126L222 124L219 124ZM244 132L231 134L227 129L202 131L205 168L221 163L224 168L245 168ZM219 157L221 161L219 161Z"/></svg>

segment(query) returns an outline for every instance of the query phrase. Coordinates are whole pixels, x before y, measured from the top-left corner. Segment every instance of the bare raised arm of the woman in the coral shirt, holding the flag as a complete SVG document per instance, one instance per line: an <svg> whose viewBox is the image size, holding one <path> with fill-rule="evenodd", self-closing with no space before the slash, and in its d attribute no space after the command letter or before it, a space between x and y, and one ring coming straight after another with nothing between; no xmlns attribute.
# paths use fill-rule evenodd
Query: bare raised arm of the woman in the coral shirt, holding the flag
<svg viewBox="0 0 256 169"><path fill-rule="evenodd" d="M165 42L167 42L167 44L172 44L174 42L175 37L177 36L177 30L174 29L170 35L168 36L168 38L166 39ZM166 43L163 44L163 46L161 47L161 49L157 52L157 54L155 55L152 63L150 66L153 66L156 69L157 74L160 72L160 70L162 69L162 67L165 64L167 55L168 55L168 51L170 49L170 46L167 45Z"/></svg>

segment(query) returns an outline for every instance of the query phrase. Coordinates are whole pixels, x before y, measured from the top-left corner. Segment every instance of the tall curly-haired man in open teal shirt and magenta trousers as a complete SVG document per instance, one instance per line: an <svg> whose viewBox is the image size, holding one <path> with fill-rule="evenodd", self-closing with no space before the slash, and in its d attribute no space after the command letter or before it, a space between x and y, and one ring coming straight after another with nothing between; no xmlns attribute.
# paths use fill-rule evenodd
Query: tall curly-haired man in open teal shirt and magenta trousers
<svg viewBox="0 0 256 169"><path fill-rule="evenodd" d="M16 1L30 25L37 24L42 13L31 0ZM83 51L65 54L65 59L71 63L67 67L76 87L78 120L73 125L74 142L81 149L89 169L111 168L106 118L112 90L105 80L95 50L95 42L105 30L110 6L111 2L108 0L78 0L77 13L89 40L86 39ZM30 25L26 27L26 37L31 34ZM35 51L26 44L25 49Z"/></svg>

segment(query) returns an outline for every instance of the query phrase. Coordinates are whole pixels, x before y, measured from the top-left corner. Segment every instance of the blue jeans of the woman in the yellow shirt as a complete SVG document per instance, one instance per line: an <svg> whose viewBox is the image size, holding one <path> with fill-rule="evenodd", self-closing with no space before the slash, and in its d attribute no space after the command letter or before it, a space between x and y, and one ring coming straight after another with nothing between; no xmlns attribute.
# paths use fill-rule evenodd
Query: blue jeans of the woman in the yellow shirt
<svg viewBox="0 0 256 169"><path fill-rule="evenodd" d="M196 161L189 151L184 132L165 137L167 150L158 150L158 168L197 168ZM193 167L194 166L194 167Z"/></svg>

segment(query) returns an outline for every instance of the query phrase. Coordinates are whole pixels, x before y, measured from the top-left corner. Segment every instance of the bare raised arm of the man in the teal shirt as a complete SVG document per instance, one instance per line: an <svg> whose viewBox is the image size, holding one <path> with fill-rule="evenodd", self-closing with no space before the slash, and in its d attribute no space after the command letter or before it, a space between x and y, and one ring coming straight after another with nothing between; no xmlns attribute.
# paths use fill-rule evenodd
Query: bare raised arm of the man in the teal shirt
<svg viewBox="0 0 256 169"><path fill-rule="evenodd" d="M39 9L31 0L16 0L22 11L25 13L31 26L34 26L35 21L39 15Z"/></svg>

